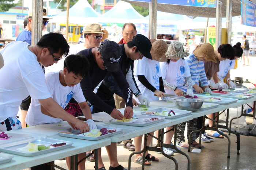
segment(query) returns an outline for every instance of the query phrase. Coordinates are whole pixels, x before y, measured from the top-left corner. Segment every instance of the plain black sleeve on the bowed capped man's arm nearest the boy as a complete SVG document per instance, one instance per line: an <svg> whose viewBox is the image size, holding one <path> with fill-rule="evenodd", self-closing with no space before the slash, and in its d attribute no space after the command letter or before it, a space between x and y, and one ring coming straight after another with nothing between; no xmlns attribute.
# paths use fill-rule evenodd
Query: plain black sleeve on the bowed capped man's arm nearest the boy
<svg viewBox="0 0 256 170"><path fill-rule="evenodd" d="M93 106L103 110L104 112L111 114L113 111L113 107L109 106L101 98L99 98L98 95L96 95L92 90L91 90L91 78L90 75L87 77L83 78L82 81L80 82L83 95L90 102L93 104Z"/></svg>

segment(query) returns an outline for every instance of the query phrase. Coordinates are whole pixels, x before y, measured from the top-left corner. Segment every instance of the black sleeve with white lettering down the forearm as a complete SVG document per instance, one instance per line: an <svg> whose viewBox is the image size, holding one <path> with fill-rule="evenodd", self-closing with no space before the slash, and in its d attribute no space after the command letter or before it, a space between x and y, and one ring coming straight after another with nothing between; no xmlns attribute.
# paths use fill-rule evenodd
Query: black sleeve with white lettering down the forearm
<svg viewBox="0 0 256 170"><path fill-rule="evenodd" d="M125 105L133 108L133 106L132 106L132 90L131 90L122 70L121 70L121 67L119 66L119 71L112 72L111 74L113 75L113 78L116 80L116 83L118 84L119 88L122 91L122 94L123 94L124 100L125 100Z"/></svg>

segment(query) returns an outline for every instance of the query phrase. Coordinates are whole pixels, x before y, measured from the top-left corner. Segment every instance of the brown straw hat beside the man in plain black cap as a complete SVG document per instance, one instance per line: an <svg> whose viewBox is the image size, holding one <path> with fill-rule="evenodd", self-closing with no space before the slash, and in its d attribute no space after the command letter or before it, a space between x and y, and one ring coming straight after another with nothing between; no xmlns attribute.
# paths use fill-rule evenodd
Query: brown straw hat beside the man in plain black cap
<svg viewBox="0 0 256 170"><path fill-rule="evenodd" d="M153 60L158 62L167 62L166 51L168 50L168 45L163 40L150 39L152 48L150 54L152 55Z"/></svg>

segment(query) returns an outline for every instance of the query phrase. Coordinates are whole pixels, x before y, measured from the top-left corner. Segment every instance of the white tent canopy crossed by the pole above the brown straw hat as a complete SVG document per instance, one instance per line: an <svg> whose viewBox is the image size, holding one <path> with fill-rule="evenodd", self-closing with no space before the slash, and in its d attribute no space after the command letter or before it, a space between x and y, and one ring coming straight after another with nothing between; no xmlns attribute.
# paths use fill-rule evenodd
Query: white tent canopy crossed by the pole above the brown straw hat
<svg viewBox="0 0 256 170"><path fill-rule="evenodd" d="M145 17L145 19L149 19L149 15ZM157 11L157 20L172 20L172 21L191 21L191 19L186 15L180 15L175 13L161 12Z"/></svg>

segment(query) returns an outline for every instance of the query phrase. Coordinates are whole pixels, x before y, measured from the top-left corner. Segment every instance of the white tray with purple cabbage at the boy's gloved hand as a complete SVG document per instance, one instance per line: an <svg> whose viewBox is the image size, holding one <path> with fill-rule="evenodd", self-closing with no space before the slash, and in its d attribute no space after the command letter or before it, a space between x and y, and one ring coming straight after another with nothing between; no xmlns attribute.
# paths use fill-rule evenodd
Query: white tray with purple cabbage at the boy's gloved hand
<svg viewBox="0 0 256 170"><path fill-rule="evenodd" d="M97 129L102 129L102 128L106 128L107 130L112 130L112 129L115 129L114 127L109 127L109 126L97 126ZM58 131L59 135L62 136L62 137L68 137L68 138L76 138L76 139L84 139L84 140L89 140L89 141L97 141L99 139L103 139L103 138L107 138L107 137L111 137L113 135L116 135L116 134L119 134L123 131L123 129L121 128L116 128L116 131L115 132L112 132L112 133L108 133L106 135L102 135L102 136L99 136L99 137L89 137L89 136L85 136L85 135L79 135L81 134L80 133L80 130L73 130L72 128L70 129L66 129L66 130L61 130L61 131ZM61 132L64 132L64 133L61 133ZM67 133L72 133L72 134L67 134Z"/></svg>

